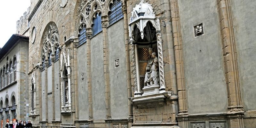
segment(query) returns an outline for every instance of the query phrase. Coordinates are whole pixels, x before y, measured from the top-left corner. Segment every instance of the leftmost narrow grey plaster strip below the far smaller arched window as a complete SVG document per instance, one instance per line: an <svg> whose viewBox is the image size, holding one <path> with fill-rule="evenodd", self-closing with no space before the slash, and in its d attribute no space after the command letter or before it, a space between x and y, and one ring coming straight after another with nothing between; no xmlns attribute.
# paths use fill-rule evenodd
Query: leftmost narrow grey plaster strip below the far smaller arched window
<svg viewBox="0 0 256 128"><path fill-rule="evenodd" d="M41 83L42 83L42 86L41 86L41 88L42 88L42 120L43 121L45 121L45 118L46 118L46 116L45 116L45 111L46 111L46 101L45 101L45 95L47 95L47 92L45 92L45 70L44 71L42 71L41 72ZM39 85L40 86L40 85Z"/></svg>

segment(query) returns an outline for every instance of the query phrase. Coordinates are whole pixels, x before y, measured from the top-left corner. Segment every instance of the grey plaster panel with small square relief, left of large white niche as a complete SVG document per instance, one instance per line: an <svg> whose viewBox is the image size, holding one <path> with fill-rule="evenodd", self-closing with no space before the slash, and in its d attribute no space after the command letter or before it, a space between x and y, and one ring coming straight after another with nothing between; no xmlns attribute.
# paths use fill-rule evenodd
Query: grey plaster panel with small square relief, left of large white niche
<svg viewBox="0 0 256 128"><path fill-rule="evenodd" d="M118 28L118 29L116 29ZM109 46L109 77L111 90L111 117L113 119L127 118L128 95L125 64L124 20L110 26L108 29ZM115 60L119 58L119 67L115 68Z"/></svg>

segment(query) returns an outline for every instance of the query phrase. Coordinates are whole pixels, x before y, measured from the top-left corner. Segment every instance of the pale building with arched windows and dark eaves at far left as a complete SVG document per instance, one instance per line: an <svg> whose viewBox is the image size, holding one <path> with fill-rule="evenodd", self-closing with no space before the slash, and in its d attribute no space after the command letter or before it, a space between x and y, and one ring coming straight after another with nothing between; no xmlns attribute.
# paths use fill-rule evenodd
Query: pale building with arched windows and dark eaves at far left
<svg viewBox="0 0 256 128"><path fill-rule="evenodd" d="M28 36L13 34L0 50L1 128L28 120Z"/></svg>

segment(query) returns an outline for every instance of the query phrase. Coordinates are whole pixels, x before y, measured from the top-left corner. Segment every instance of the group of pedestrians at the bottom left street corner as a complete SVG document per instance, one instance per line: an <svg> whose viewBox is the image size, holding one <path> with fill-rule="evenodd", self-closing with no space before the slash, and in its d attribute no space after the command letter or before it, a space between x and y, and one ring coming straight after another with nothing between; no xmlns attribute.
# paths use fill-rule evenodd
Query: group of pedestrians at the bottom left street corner
<svg viewBox="0 0 256 128"><path fill-rule="evenodd" d="M5 128L33 128L30 120L28 120L28 123L24 120L21 122L21 120L18 122L18 120L14 120L13 122L10 121L10 123L6 123Z"/></svg>

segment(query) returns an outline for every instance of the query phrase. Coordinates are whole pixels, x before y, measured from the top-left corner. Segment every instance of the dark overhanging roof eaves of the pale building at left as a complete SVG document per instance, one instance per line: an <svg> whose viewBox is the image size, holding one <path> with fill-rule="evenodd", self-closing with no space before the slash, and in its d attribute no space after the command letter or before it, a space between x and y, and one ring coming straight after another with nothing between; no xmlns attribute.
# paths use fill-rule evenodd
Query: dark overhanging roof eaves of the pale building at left
<svg viewBox="0 0 256 128"><path fill-rule="evenodd" d="M4 44L4 46L0 49L0 62L4 59L5 55L12 50L13 46L16 45L18 40L26 40L29 41L28 36L23 36L19 34L13 34L10 39Z"/></svg>

